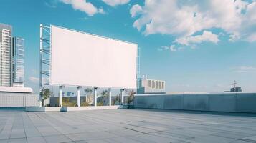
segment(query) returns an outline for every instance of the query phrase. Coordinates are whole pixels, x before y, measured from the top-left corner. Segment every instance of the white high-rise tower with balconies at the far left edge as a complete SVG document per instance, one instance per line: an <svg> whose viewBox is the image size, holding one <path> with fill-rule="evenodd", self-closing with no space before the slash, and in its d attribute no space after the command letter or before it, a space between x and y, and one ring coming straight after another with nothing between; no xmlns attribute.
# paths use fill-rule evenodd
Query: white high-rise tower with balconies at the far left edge
<svg viewBox="0 0 256 143"><path fill-rule="evenodd" d="M11 86L11 26L0 24L0 86Z"/></svg>

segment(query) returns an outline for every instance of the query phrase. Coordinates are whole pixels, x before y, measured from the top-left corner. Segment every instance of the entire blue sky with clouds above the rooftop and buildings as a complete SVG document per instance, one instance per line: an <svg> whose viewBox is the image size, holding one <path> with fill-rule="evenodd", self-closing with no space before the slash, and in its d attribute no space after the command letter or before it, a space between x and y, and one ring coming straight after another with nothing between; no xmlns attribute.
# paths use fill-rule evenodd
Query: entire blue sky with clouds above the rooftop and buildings
<svg viewBox="0 0 256 143"><path fill-rule="evenodd" d="M39 89L39 24L138 43L141 75L167 91L256 92L256 1L1 0L26 41L25 85ZM228 7L228 8L227 8ZM11 10L10 10L11 9Z"/></svg>

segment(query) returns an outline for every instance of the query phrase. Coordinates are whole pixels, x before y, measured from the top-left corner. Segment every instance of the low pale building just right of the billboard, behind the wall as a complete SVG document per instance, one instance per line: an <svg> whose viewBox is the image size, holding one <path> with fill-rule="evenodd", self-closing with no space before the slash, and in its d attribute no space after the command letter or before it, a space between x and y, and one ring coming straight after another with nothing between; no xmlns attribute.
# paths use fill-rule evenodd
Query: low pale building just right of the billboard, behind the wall
<svg viewBox="0 0 256 143"><path fill-rule="evenodd" d="M137 94L166 94L165 87L165 81L148 79L144 76L138 79Z"/></svg>

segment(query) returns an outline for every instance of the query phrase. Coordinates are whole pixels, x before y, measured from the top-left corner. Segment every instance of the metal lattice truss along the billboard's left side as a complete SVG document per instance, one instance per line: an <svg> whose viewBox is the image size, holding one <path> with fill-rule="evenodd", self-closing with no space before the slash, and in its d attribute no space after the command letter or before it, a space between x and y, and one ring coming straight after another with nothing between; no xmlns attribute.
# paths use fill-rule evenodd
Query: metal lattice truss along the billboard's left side
<svg viewBox="0 0 256 143"><path fill-rule="evenodd" d="M40 92L44 85L49 85L50 71L50 55L51 55L51 28L40 24L40 75L39 87Z"/></svg>

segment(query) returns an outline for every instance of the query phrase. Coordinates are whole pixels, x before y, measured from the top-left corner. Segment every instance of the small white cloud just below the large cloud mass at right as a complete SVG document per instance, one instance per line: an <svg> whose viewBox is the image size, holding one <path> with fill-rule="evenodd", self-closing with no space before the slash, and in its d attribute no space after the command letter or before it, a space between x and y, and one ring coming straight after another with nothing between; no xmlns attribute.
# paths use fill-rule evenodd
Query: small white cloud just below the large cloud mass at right
<svg viewBox="0 0 256 143"><path fill-rule="evenodd" d="M190 44L199 44L203 41L208 41L217 44L219 41L218 35L213 34L211 31L204 31L202 35L187 36L185 38L176 39L177 43L186 46L189 46Z"/></svg>

